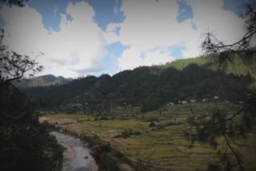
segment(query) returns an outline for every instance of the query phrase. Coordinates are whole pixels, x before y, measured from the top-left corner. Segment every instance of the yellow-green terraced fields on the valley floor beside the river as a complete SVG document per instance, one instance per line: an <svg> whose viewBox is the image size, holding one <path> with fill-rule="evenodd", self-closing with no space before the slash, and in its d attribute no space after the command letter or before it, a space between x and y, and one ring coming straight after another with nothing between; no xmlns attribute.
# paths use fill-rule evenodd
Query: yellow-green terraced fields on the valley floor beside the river
<svg viewBox="0 0 256 171"><path fill-rule="evenodd" d="M230 113L238 109L231 104L194 103L170 105L149 113L140 113L139 108L111 109L107 115L109 120L99 120L99 116L90 114L46 115L41 120L77 133L97 134L131 161L150 161L154 165L152 170L205 170L207 163L216 159L222 145L213 149L210 145L195 143L190 148L184 129L191 110L200 116L209 114L216 105ZM154 121L156 126L150 127L150 121ZM117 137L125 130L141 134ZM220 137L218 142L222 140ZM232 145L244 156L246 170L256 170L256 133L251 133L246 140L232 141ZM120 165L122 170L130 169L125 164Z"/></svg>

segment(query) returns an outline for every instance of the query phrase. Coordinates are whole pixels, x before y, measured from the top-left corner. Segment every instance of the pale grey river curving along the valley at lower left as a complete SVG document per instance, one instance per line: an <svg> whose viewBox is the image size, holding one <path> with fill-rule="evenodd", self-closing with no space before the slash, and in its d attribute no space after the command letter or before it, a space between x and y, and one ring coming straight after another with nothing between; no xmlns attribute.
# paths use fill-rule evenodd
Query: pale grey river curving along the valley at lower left
<svg viewBox="0 0 256 171"><path fill-rule="evenodd" d="M62 171L98 171L101 170L90 149L76 137L58 132L51 132L58 142L66 147L63 153Z"/></svg>

